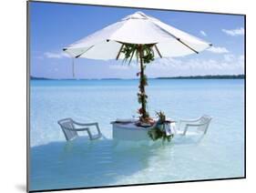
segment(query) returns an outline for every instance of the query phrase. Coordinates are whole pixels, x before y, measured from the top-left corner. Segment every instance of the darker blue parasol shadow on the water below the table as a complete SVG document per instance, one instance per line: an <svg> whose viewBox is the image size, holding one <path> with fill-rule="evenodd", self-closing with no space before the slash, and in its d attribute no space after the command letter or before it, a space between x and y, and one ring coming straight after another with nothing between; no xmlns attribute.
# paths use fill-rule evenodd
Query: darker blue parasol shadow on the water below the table
<svg viewBox="0 0 256 193"><path fill-rule="evenodd" d="M196 141L186 137L178 141L183 145L196 145ZM150 157L158 156L161 151L171 153L172 147L173 143L161 141L90 141L85 137L32 147L31 189L115 185L119 178L129 178L148 168Z"/></svg>

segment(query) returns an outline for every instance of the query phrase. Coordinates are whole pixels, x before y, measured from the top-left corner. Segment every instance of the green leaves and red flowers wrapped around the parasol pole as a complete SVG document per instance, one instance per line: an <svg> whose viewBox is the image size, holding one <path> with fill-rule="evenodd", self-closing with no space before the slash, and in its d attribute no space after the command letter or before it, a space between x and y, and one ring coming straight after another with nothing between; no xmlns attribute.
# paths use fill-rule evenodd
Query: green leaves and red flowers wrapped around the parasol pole
<svg viewBox="0 0 256 193"><path fill-rule="evenodd" d="M140 60L140 72L137 73L139 78L139 92L138 92L138 103L141 104L141 107L138 109L139 120L144 123L148 123L151 121L147 111L147 99L148 96L145 92L145 86L148 86L148 78L144 74L144 70L146 69L146 65L154 60L154 44L150 45L134 45L134 44L123 44L121 52L124 53L125 58L124 62L128 61L130 64L133 56L135 55Z"/></svg>

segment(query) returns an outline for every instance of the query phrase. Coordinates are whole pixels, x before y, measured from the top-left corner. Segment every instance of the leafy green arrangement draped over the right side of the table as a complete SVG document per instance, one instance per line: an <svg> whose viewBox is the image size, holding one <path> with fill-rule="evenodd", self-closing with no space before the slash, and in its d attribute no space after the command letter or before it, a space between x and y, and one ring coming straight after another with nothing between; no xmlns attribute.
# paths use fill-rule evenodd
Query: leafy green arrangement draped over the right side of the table
<svg viewBox="0 0 256 193"><path fill-rule="evenodd" d="M150 137L153 141L156 141L158 139L162 139L163 142L170 141L173 137L173 134L171 134L170 136L166 135L165 123L167 122L167 120L165 114L159 111L157 112L157 116L159 117L159 120L155 127L148 130L148 137Z"/></svg>

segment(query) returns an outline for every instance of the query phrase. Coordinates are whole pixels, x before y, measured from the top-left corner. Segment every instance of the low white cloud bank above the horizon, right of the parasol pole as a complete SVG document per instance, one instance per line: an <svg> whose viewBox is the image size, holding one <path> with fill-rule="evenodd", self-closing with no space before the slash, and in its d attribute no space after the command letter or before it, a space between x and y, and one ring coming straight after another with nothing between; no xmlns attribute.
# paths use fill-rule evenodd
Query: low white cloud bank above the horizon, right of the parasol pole
<svg viewBox="0 0 256 193"><path fill-rule="evenodd" d="M238 75L244 73L244 56L224 55L215 59L163 58L147 66L148 76ZM157 72L157 73L156 73Z"/></svg>

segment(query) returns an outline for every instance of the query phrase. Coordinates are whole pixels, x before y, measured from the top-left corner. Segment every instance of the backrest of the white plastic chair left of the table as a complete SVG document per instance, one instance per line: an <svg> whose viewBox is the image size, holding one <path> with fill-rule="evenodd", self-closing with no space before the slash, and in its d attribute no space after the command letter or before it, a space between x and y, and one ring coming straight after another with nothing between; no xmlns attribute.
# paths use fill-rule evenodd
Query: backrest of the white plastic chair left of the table
<svg viewBox="0 0 256 193"><path fill-rule="evenodd" d="M68 129L68 128L75 129L73 120L71 118L61 119L57 123L62 128L62 131L67 141L70 141L78 136L77 131Z"/></svg>

